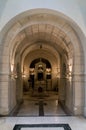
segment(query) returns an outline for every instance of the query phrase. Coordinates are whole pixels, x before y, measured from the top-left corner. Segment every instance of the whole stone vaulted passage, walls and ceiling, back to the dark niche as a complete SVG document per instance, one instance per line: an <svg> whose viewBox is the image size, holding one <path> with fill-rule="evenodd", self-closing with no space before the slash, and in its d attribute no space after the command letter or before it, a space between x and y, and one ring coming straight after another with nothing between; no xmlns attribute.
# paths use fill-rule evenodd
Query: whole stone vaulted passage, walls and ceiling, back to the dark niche
<svg viewBox="0 0 86 130"><path fill-rule="evenodd" d="M15 18L10 21L10 27L2 37L2 56L5 56L6 50L5 58L8 62L4 69L2 57L1 73L2 77L4 74L7 78L6 91L9 92L5 98L4 95L1 97L1 114L8 114L17 101L22 101L22 75L27 72L27 67L24 68L25 57L28 56L30 64L39 55L49 59L53 66L52 84L55 86L59 82L59 101L73 114L83 114L84 59L82 44L74 28L76 24L72 25L72 20L69 22L69 18L52 10L45 13L38 9L21 15L22 18L20 15L16 17L16 22L12 22ZM41 50L40 43L43 45ZM19 69L16 69L17 65ZM41 77L43 78L42 75ZM3 80L1 86L4 86ZM15 89L17 91L14 92ZM3 100L6 102L5 106L2 104Z"/></svg>

